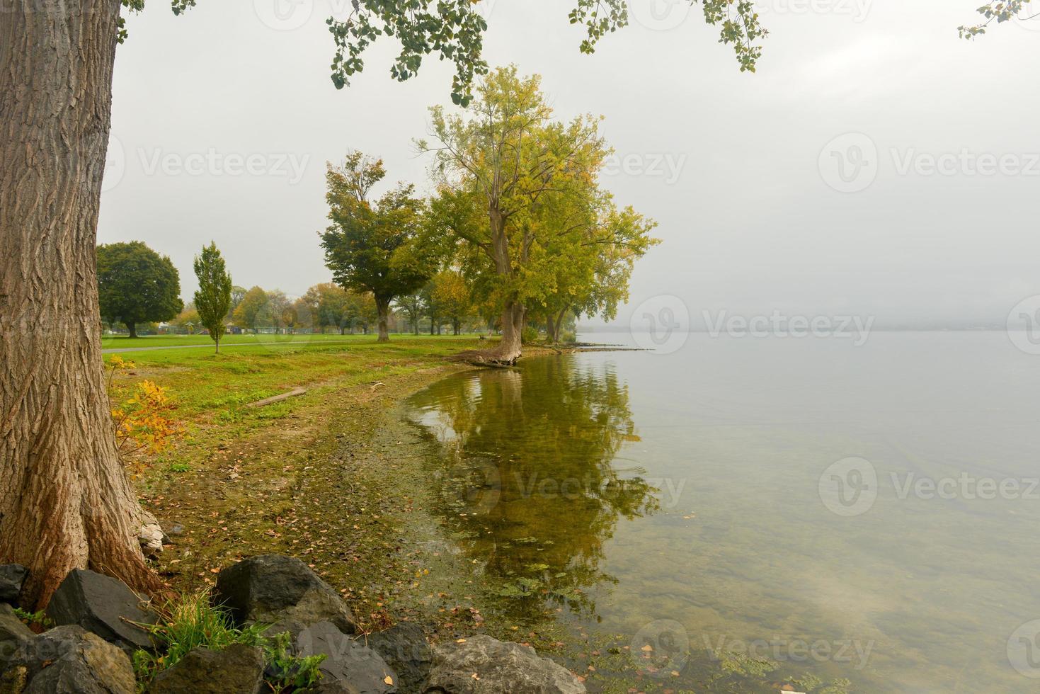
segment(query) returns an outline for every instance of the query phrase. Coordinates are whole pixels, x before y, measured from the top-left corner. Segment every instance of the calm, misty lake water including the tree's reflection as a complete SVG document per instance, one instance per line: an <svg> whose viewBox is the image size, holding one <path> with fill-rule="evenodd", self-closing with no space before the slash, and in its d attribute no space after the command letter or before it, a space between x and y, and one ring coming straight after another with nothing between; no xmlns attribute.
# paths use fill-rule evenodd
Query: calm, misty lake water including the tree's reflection
<svg viewBox="0 0 1040 694"><path fill-rule="evenodd" d="M1040 356L693 333L521 363L410 404L518 619L620 635L648 691L1040 690Z"/></svg>

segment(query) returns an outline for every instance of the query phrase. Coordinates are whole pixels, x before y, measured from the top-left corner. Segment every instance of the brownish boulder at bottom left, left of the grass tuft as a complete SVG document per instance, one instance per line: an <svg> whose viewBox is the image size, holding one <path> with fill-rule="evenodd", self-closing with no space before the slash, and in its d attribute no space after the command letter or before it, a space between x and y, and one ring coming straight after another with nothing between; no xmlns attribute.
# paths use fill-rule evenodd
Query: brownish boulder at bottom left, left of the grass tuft
<svg viewBox="0 0 1040 694"><path fill-rule="evenodd" d="M25 694L134 694L133 667L118 646L81 626L57 626L23 644L4 675Z"/></svg>

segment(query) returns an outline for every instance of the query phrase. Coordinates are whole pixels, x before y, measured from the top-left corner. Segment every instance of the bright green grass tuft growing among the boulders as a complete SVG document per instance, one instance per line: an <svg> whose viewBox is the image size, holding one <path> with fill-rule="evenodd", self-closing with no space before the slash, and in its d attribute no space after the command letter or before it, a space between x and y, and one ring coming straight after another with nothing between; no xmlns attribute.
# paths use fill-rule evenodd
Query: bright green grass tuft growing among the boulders
<svg viewBox="0 0 1040 694"><path fill-rule="evenodd" d="M264 636L267 624L238 628L227 610L213 607L209 591L181 595L157 610L157 624L141 624L149 629L155 651L137 650L133 654L134 673L141 691L156 674L173 667L192 648L220 650L236 643L263 650L266 680L275 692L297 694L321 678L318 665L324 656L293 654L288 633L272 638Z"/></svg>

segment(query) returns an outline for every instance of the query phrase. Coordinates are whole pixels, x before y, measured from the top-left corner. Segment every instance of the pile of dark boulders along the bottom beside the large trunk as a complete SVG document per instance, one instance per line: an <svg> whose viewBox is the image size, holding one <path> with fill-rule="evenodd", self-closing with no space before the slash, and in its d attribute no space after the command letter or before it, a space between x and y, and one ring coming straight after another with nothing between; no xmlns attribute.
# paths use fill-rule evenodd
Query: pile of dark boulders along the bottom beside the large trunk
<svg viewBox="0 0 1040 694"><path fill-rule="evenodd" d="M76 569L46 617L18 610L26 571L0 567L0 694L228 694L297 691L326 694L579 694L567 669L529 646L478 635L432 647L421 625L399 622L364 634L350 607L306 564L262 555L223 569L212 605L239 627L260 625L265 639L288 643L292 660L271 660L258 645L197 646L170 667L158 652L160 610L109 576ZM27 623L28 622L28 623ZM42 622L47 628L43 628ZM30 628L33 626L35 628ZM257 628L254 626L253 628ZM132 661L156 657L148 682ZM279 669L310 659L320 672L306 687Z"/></svg>

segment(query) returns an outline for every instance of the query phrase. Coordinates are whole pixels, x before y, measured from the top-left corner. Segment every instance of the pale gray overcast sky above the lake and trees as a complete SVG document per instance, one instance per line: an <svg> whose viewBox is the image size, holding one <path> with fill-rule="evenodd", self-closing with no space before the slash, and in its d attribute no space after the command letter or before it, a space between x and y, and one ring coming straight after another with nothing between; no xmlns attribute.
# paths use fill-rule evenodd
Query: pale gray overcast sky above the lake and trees
<svg viewBox="0 0 1040 694"><path fill-rule="evenodd" d="M632 301L704 310L1003 323L1040 293L1040 21L973 43L980 0L765 0L756 74L700 7L631 0L578 52L572 2L485 2L491 65L543 75L556 115L602 113L620 204L659 223ZM331 277L324 166L350 149L426 187L427 107L451 68L389 77L392 40L336 91L326 26L344 0L151 0L115 62L99 242L168 255L185 299L215 240L236 284L301 294ZM347 5L348 6L348 5ZM244 171L249 169L250 171Z"/></svg>

